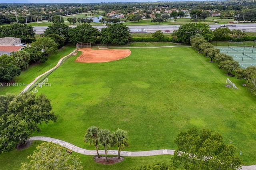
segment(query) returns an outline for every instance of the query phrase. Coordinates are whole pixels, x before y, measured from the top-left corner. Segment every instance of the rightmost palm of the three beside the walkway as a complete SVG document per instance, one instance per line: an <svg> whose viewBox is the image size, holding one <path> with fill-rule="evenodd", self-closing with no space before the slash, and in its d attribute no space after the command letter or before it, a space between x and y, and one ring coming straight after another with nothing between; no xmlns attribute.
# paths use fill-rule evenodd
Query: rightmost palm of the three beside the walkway
<svg viewBox="0 0 256 170"><path fill-rule="evenodd" d="M127 140L128 136L125 130L118 128L116 132L114 132L114 145L118 146L118 159L120 159L121 149L124 149L125 146L129 146Z"/></svg>

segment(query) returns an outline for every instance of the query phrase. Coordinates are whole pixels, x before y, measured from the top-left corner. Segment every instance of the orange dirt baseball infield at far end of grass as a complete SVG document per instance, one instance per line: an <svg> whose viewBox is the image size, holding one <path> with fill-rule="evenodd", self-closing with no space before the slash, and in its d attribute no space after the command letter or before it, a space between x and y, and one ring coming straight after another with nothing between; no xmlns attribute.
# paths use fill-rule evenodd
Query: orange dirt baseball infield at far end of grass
<svg viewBox="0 0 256 170"><path fill-rule="evenodd" d="M131 53L129 49L88 49L82 48L78 51L83 53L77 57L75 62L79 63L104 63L116 61L128 57Z"/></svg>

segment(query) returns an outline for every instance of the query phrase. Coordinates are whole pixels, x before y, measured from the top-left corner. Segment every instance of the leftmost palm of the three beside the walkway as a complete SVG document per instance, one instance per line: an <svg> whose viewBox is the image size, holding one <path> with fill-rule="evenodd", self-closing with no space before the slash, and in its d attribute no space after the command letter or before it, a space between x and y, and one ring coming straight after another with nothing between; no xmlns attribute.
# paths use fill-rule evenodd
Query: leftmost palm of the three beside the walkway
<svg viewBox="0 0 256 170"><path fill-rule="evenodd" d="M98 132L99 128L96 126L89 127L86 131L86 134L84 135L84 142L88 142L90 146L94 144L96 151L97 151L97 156L100 158L99 155L99 143L98 143Z"/></svg>

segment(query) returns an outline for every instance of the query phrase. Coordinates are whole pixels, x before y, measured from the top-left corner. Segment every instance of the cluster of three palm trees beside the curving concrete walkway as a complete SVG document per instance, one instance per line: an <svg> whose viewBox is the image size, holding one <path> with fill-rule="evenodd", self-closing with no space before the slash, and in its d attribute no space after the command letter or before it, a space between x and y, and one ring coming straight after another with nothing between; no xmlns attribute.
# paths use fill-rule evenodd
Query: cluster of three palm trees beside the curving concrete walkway
<svg viewBox="0 0 256 170"><path fill-rule="evenodd" d="M127 132L118 128L115 132L110 133L107 129L100 129L96 126L89 127L84 135L84 142L89 145L94 145L99 156L98 149L100 146L104 146L106 162L108 162L107 152L112 146L118 146L118 159L120 159L120 151L125 146L129 146Z"/></svg>

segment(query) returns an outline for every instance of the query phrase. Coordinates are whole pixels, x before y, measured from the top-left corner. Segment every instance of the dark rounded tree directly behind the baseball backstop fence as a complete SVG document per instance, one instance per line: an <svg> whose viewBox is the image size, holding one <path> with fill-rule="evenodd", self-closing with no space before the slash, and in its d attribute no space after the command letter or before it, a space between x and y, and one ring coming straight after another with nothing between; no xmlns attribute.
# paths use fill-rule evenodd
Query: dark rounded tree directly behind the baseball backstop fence
<svg viewBox="0 0 256 170"><path fill-rule="evenodd" d="M82 24L76 28L71 28L68 34L70 36L70 42L74 44L78 42L90 42L94 44L97 42L98 36L100 36L99 30L89 24Z"/></svg>

